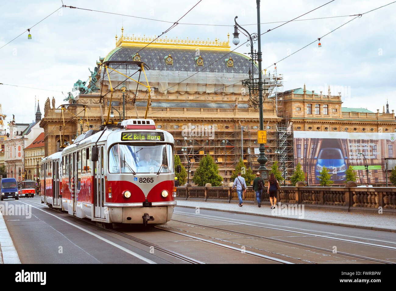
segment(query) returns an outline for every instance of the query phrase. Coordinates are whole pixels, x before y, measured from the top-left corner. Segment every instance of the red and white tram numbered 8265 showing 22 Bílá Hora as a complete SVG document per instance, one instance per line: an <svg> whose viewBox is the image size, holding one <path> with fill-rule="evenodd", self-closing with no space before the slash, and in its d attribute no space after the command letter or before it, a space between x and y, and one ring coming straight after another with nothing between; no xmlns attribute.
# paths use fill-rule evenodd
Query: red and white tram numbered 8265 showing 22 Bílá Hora
<svg viewBox="0 0 396 291"><path fill-rule="evenodd" d="M42 202L76 217L104 224L160 224L172 218L173 137L153 120L89 130L44 158L41 170Z"/></svg>

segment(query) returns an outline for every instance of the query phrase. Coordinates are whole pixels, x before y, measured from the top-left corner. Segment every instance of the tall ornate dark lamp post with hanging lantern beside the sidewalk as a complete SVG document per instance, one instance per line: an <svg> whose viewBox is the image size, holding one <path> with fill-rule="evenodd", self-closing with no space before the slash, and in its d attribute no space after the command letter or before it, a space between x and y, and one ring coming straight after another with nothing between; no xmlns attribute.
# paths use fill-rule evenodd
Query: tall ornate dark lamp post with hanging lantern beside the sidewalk
<svg viewBox="0 0 396 291"><path fill-rule="evenodd" d="M232 39L232 43L237 45L239 44L239 33L238 33L238 27L242 30L244 30L248 36L249 36L249 41L250 44L247 44L248 46L250 45L250 55L251 55L251 63L252 63L252 70L249 72L249 79L248 80L243 80L242 85L245 85L249 88L249 99L251 103L253 104L254 108L257 108L257 105L259 107L259 119L260 119L260 130L264 130L264 122L263 122L263 77L262 77L262 72L261 72L261 62L262 62L262 52L261 52L261 30L260 30L260 0L256 0L257 4L257 34L249 34L246 29L241 27L237 22L236 19L238 16L234 18L235 25L234 25L234 38ZM253 41L257 40L258 44L258 51L257 54L253 53ZM254 61L257 61L259 65L259 78L258 82L256 78L253 78L254 76ZM256 82L255 82L256 81ZM254 91L259 91L259 96L257 100L257 95L254 96ZM264 179L267 179L267 167L265 167L265 163L267 163L267 157L265 156L265 146L264 144L260 144L259 147L260 154L259 158L257 159L257 162L259 162L260 167L259 171L261 173L265 173L262 175Z"/></svg>

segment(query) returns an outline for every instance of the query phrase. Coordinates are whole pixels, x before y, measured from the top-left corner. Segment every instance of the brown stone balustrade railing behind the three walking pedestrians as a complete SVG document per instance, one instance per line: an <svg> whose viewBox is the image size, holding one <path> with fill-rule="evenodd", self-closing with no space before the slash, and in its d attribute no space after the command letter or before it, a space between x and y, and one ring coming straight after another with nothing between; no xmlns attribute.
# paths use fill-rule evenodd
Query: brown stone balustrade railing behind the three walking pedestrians
<svg viewBox="0 0 396 291"><path fill-rule="evenodd" d="M238 194L232 187L177 187L176 197L185 200L238 202ZM248 186L244 203L256 203L256 194ZM264 191L262 202L269 202ZM281 187L277 202L303 204L307 208L384 213L396 215L396 187Z"/></svg>

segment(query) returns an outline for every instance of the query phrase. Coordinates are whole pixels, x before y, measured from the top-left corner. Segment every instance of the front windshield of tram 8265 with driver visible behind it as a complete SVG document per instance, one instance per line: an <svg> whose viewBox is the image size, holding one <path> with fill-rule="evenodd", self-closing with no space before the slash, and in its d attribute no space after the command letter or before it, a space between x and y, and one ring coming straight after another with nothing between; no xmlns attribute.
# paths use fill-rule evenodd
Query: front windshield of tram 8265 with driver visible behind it
<svg viewBox="0 0 396 291"><path fill-rule="evenodd" d="M113 145L109 173L173 173L173 151L166 144Z"/></svg>

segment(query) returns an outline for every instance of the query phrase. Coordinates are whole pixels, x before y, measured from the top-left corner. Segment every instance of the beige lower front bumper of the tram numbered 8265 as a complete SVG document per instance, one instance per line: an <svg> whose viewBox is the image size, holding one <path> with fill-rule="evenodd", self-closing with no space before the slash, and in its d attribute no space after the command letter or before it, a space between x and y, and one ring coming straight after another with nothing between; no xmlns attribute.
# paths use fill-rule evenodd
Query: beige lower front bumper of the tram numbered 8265
<svg viewBox="0 0 396 291"><path fill-rule="evenodd" d="M175 205L154 207L109 207L110 223L143 223L145 214L154 217L149 224L166 223L172 219Z"/></svg>

